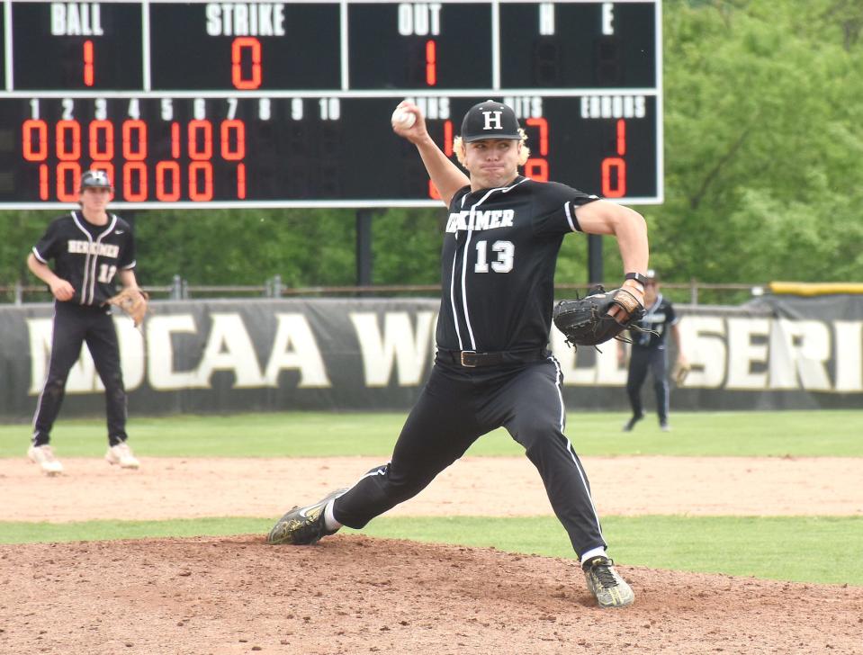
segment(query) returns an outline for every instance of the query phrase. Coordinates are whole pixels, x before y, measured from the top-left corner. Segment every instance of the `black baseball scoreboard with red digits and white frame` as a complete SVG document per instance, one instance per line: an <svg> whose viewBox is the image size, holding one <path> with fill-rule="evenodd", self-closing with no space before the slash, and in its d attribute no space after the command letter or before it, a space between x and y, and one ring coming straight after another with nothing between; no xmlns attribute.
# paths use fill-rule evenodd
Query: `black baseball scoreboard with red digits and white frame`
<svg viewBox="0 0 863 655"><path fill-rule="evenodd" d="M0 12L0 209L437 205L390 115L452 155L510 104L526 175L662 201L660 0L44 2Z"/></svg>

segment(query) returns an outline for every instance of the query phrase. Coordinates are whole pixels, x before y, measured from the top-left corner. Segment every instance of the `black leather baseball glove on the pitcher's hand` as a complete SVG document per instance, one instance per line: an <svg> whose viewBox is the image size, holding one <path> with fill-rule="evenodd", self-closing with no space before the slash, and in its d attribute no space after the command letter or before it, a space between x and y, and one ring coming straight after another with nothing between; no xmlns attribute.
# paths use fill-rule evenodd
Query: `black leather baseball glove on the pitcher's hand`
<svg viewBox="0 0 863 655"><path fill-rule="evenodd" d="M621 312L616 317L609 316L608 310L617 305ZM641 330L638 321L644 316L642 303L626 289L613 289L607 292L597 285L591 288L587 297L575 301L560 301L554 308L554 325L566 336L570 345L603 344L617 338L624 330Z"/></svg>

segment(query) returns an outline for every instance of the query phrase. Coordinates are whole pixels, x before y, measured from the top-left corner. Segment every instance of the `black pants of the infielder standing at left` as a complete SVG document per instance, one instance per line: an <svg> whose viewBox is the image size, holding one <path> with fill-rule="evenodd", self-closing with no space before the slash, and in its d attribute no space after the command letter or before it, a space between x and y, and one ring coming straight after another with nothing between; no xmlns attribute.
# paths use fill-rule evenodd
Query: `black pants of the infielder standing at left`
<svg viewBox="0 0 863 655"><path fill-rule="evenodd" d="M49 442L51 428L66 396L69 371L81 354L81 345L85 343L105 388L108 442L116 445L126 440L126 390L123 387L120 345L111 310L55 302L48 379L36 406L36 416L33 417L34 445Z"/></svg>

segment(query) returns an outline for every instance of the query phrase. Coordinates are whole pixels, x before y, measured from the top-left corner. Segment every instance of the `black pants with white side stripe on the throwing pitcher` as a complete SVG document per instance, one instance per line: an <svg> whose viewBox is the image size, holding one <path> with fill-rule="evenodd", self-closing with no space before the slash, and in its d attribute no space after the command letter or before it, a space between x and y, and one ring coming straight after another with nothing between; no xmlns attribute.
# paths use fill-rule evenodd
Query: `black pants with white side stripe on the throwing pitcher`
<svg viewBox="0 0 863 655"><path fill-rule="evenodd" d="M443 363L438 356L391 461L337 498L333 516L363 527L425 489L481 435L504 426L539 471L575 552L605 547L587 474L563 434L561 385L560 365L551 356L483 368ZM476 511L481 514L482 507Z"/></svg>

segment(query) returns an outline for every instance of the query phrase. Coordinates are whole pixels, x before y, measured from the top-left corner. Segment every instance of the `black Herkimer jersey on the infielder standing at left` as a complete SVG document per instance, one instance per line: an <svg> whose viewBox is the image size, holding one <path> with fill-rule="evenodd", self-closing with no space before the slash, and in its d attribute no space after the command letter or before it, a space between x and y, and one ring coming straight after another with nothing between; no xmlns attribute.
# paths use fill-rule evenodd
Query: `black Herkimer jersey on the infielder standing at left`
<svg viewBox="0 0 863 655"><path fill-rule="evenodd" d="M42 264L54 260L54 273L75 288L69 302L101 305L115 293L114 274L135 267L135 241L129 223L114 214L107 225L94 225L71 211L51 222L33 255Z"/></svg>

